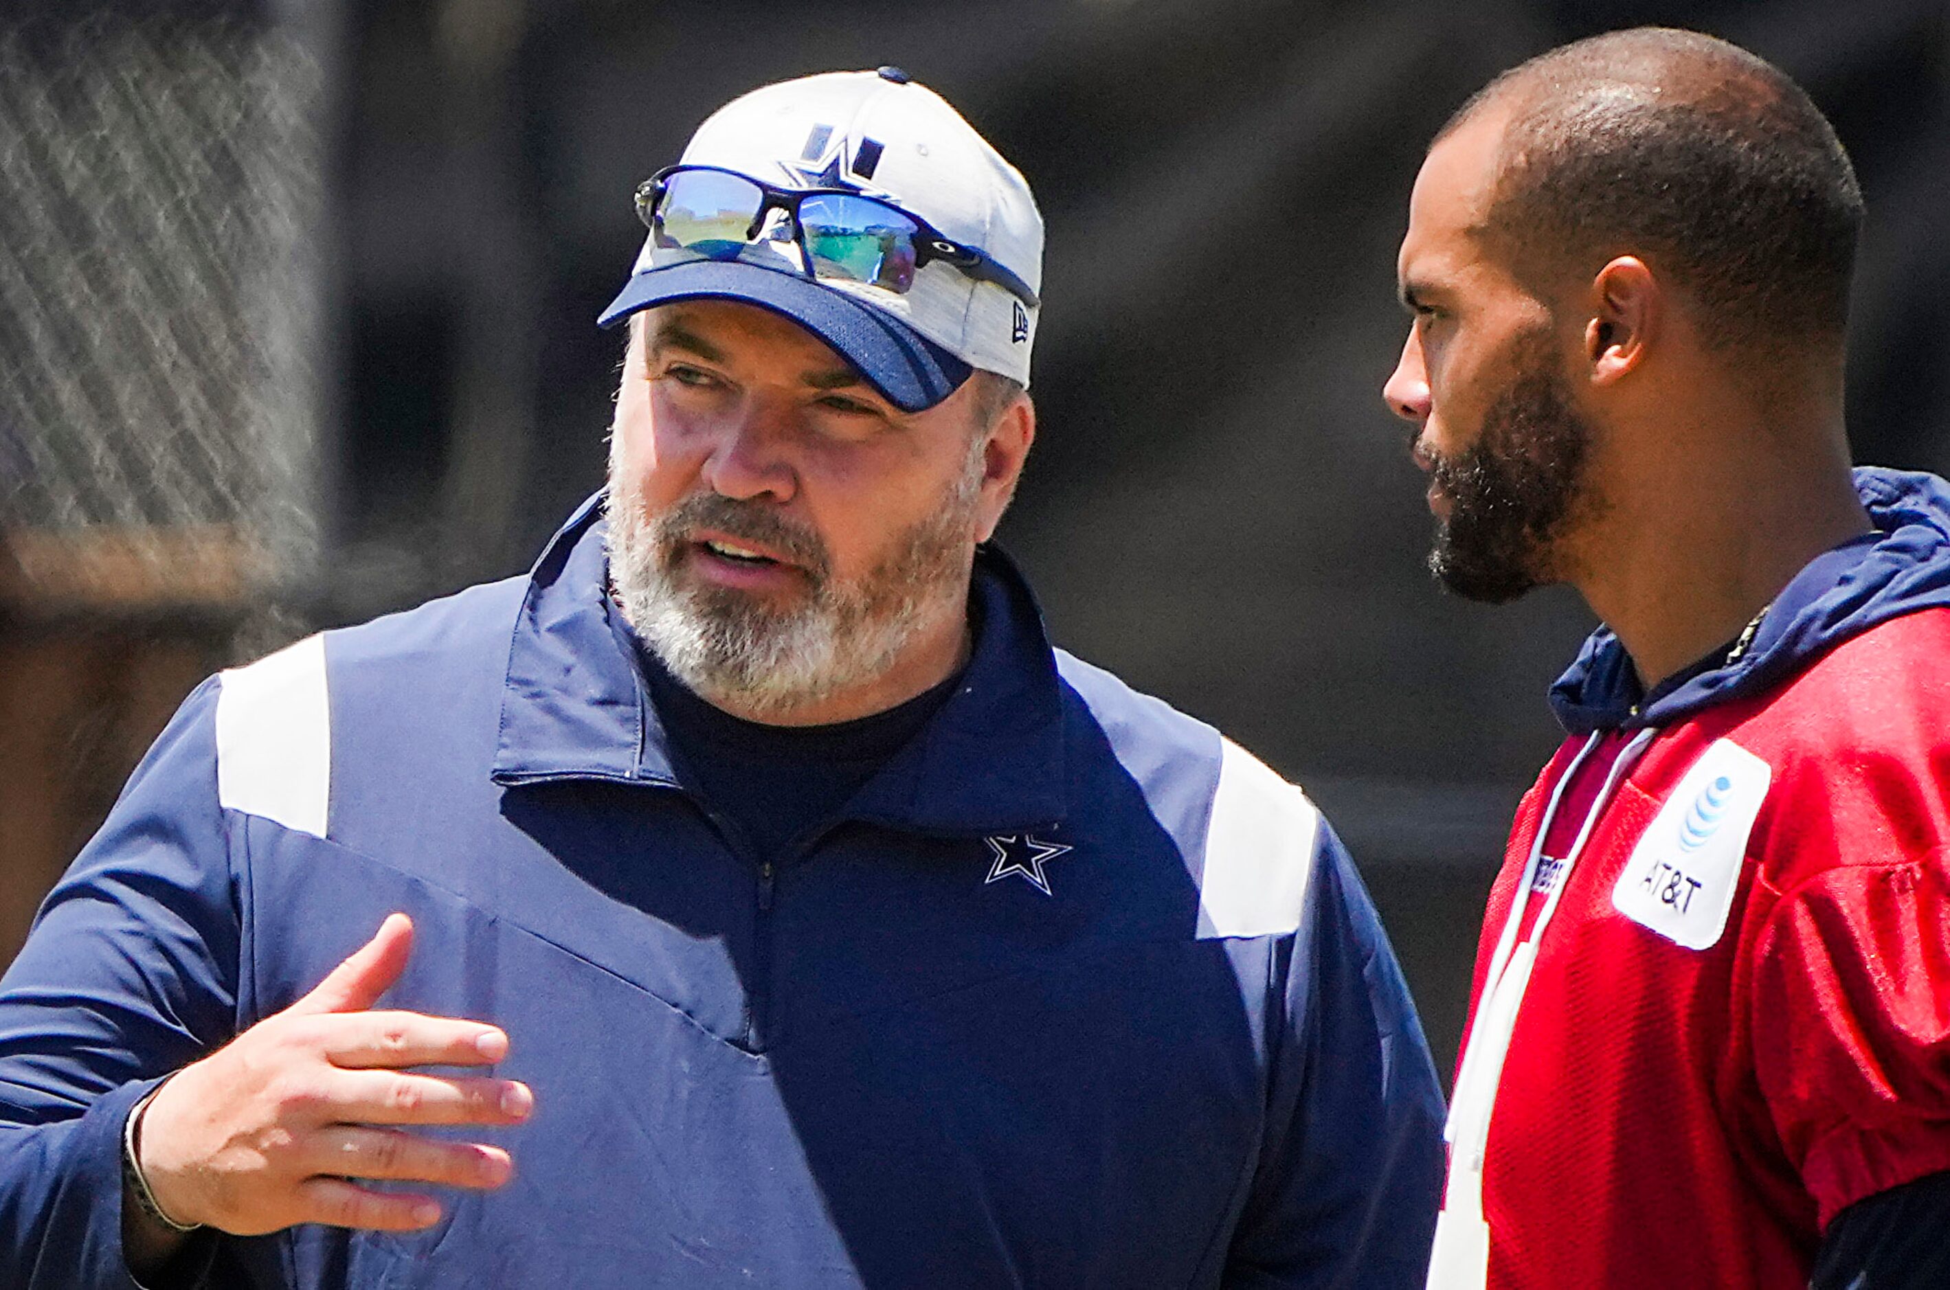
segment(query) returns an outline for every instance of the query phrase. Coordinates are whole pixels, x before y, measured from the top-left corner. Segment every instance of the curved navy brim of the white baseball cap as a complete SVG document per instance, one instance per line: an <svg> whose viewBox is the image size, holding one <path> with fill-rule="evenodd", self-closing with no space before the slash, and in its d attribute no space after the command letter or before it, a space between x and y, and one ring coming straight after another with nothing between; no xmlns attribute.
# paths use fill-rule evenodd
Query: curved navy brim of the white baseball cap
<svg viewBox="0 0 1950 1290"><path fill-rule="evenodd" d="M860 368L901 411L926 411L973 370L891 314L796 273L743 261L694 259L634 275L597 318L612 327L630 314L675 300L745 300L782 314Z"/></svg>

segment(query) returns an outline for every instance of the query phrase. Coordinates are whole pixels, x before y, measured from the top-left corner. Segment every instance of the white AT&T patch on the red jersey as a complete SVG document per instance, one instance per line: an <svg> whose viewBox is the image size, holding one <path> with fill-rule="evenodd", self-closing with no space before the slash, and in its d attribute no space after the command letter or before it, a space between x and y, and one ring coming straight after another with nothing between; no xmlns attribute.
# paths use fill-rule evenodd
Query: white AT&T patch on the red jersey
<svg viewBox="0 0 1950 1290"><path fill-rule="evenodd" d="M1773 778L1732 739L1714 740L1638 840L1611 908L1687 949L1716 943Z"/></svg>

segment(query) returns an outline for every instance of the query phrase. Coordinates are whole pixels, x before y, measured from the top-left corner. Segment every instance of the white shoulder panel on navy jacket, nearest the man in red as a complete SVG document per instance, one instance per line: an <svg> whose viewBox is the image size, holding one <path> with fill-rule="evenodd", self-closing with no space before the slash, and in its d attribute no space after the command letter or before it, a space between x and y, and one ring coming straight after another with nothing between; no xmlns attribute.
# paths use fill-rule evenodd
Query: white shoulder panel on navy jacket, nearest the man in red
<svg viewBox="0 0 1950 1290"><path fill-rule="evenodd" d="M1199 875L1199 939L1297 931L1320 811L1230 739L1221 737L1221 748Z"/></svg>

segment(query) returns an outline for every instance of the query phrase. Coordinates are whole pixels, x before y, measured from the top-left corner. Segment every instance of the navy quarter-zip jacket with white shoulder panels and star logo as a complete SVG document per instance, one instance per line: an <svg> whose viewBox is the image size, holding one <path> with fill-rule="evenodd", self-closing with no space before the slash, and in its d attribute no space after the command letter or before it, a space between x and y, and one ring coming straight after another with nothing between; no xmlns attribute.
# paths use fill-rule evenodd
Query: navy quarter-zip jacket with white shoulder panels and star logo
<svg viewBox="0 0 1950 1290"><path fill-rule="evenodd" d="M585 507L534 573L205 682L0 982L0 1284L131 1286L119 1134L390 910L493 1021L515 1181L248 1286L1420 1286L1441 1105L1299 789L1053 651L973 661L760 873L675 772Z"/></svg>

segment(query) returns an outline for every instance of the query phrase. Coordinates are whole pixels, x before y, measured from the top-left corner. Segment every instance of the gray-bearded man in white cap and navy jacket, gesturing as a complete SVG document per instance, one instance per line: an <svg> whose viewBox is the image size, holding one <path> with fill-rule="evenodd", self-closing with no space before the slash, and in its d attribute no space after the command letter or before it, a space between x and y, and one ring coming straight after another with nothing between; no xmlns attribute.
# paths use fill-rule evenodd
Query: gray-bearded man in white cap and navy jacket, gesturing
<svg viewBox="0 0 1950 1290"><path fill-rule="evenodd" d="M1022 175L881 68L638 209L606 503L209 682L49 898L0 1282L1420 1282L1439 1095L1347 855L987 544Z"/></svg>

